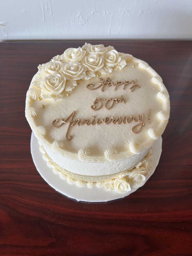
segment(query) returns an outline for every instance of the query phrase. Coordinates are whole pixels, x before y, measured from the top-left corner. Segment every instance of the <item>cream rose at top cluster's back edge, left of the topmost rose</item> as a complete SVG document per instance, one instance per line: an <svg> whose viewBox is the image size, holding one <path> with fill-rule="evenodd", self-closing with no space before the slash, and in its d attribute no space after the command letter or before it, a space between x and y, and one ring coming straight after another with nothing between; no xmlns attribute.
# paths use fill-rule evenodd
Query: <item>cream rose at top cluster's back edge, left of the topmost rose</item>
<svg viewBox="0 0 192 256"><path fill-rule="evenodd" d="M86 51L79 48L68 48L61 55L61 59L63 62L81 62L85 57Z"/></svg>

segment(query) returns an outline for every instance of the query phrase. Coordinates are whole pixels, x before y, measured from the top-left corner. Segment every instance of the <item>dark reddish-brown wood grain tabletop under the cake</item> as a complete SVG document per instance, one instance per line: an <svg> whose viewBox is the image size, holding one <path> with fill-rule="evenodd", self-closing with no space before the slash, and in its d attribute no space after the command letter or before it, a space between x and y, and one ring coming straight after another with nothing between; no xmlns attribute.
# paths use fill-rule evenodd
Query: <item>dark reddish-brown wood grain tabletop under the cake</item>
<svg viewBox="0 0 192 256"><path fill-rule="evenodd" d="M0 255L192 255L191 41L99 41L163 78L171 114L159 165L128 197L86 204L58 194L30 153L25 98L39 63L82 41L0 43Z"/></svg>

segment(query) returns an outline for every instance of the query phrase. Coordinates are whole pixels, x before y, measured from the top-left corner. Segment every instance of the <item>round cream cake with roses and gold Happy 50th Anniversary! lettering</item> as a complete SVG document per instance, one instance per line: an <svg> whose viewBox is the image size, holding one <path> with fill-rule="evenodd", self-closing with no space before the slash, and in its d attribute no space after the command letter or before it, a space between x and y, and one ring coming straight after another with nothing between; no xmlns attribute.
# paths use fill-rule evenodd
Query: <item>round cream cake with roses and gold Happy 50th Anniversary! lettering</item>
<svg viewBox="0 0 192 256"><path fill-rule="evenodd" d="M119 193L150 175L151 147L169 112L169 94L146 62L88 43L38 66L25 109L55 173L78 187Z"/></svg>

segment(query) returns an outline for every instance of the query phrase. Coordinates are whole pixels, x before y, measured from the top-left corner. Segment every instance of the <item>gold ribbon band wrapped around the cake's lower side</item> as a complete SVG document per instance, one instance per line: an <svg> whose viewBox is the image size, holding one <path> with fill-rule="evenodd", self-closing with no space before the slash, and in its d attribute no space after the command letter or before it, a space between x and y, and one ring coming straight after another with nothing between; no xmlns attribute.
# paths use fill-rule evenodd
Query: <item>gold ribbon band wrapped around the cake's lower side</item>
<svg viewBox="0 0 192 256"><path fill-rule="evenodd" d="M45 150L45 148L44 148ZM139 162L141 162L145 157L143 157L137 164L135 164L134 166L132 166L131 168L124 170L124 171L120 171L120 172L116 172L113 174L107 174L107 175L98 175L98 176L90 176L90 175L80 175L80 174L76 174L74 172L68 171L64 168L62 168L60 165L58 165L57 163L55 163L51 157L47 154L47 152L45 151L45 154L47 156L47 158L49 159L49 161L51 162L51 164L53 165L53 167L55 167L58 171L60 171L61 173L63 173L64 175L74 179L74 180L80 180L80 181L86 181L86 182L103 182L103 181L109 181L112 180L116 177L118 177L120 174L123 174L124 172L130 171L132 169L135 168L135 166L137 164L139 164Z"/></svg>

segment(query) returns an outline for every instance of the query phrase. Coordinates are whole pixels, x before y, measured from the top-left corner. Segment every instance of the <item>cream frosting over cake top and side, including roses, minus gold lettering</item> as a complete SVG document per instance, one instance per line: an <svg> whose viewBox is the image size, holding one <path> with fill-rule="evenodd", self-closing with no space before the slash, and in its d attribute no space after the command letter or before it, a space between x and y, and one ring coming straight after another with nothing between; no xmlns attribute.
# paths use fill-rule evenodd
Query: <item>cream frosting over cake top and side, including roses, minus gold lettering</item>
<svg viewBox="0 0 192 256"><path fill-rule="evenodd" d="M63 55L53 57L51 62L39 65L38 69L27 92L26 117L49 156L69 171L106 175L129 169L147 154L166 127L170 103L162 79L146 62L132 55L118 53L111 46L85 44L82 48L67 49ZM114 83L137 79L140 88L130 92L130 85L127 85L123 91L121 85L115 91L113 86L105 85L104 92L101 88L87 90L88 83L98 85L98 74L106 80L109 73ZM69 91L70 97L67 97ZM126 99L125 104L114 103L110 110L104 105L99 111L91 109L96 97L109 99L121 95ZM40 96L42 100L38 100ZM41 107L42 104L45 108ZM143 113L145 126L140 133L134 134L131 128L139 124L138 121L119 125L75 125L69 131L73 139L67 141L68 124L58 129L51 124L54 119L61 124L61 118L66 119L72 111L76 111L75 118L81 120L91 120L93 115L100 119L107 116L118 118L119 115L122 118L137 117L138 114L141 117Z"/></svg>

